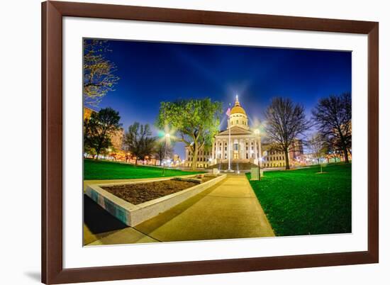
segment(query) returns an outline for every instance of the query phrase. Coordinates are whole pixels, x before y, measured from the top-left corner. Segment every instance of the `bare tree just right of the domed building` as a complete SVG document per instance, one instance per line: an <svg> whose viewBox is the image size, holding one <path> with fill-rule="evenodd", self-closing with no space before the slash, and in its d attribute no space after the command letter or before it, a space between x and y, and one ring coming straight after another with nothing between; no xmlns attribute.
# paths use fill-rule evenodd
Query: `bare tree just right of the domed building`
<svg viewBox="0 0 390 285"><path fill-rule="evenodd" d="M290 169L289 152L299 135L311 127L306 120L305 108L291 99L276 97L265 111L265 131L272 148L284 152L286 169Z"/></svg>

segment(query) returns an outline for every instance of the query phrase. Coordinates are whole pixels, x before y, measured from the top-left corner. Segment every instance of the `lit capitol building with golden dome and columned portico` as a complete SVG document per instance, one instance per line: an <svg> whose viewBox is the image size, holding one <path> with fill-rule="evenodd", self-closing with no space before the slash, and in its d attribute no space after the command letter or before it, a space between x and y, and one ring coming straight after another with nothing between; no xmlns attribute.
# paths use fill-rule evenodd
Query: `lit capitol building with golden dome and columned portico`
<svg viewBox="0 0 390 285"><path fill-rule="evenodd" d="M229 144L230 133L230 147ZM230 150L230 154L229 154ZM303 152L301 145L298 149L289 154L290 163L292 159ZM186 157L184 165L191 167L192 152L190 147L186 147ZM200 149L196 167L207 168L216 165L216 168L224 165L227 168L229 161L231 168L235 165L255 166L259 160L262 167L285 167L285 157L283 152L270 149L268 144L262 145L262 138L258 130L250 128L247 113L236 96L235 104L230 110L228 118L228 128L218 133L213 140L211 149Z"/></svg>

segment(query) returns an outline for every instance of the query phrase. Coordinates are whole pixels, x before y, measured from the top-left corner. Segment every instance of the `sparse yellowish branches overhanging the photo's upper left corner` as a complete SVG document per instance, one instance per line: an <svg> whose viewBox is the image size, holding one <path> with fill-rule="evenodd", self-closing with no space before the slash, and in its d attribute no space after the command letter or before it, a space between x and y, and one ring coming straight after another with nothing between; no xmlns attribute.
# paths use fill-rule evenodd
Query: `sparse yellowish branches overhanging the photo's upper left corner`
<svg viewBox="0 0 390 285"><path fill-rule="evenodd" d="M98 106L108 91L118 83L119 77L114 72L116 65L105 57L108 49L107 40L84 40L84 103Z"/></svg>

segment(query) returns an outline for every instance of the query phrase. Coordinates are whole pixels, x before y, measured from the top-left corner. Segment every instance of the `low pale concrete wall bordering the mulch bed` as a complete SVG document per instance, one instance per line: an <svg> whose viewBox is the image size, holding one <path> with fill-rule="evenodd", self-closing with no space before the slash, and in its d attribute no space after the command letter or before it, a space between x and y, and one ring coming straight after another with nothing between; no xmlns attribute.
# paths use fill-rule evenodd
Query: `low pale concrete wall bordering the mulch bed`
<svg viewBox="0 0 390 285"><path fill-rule="evenodd" d="M134 205L128 201L125 201L101 188L101 186L139 184L152 181L168 180L172 178L173 177L154 179L150 181L89 185L87 186L85 194L87 194L89 198L98 203L99 206L108 211L108 213L111 213L112 216L118 218L118 220L121 220L123 223L126 223L126 225L134 226L138 225L139 223L142 223L145 220L153 218L159 213L167 211L169 210L169 208L172 208L177 204L182 203L186 199L189 199L192 196L195 196L196 194L199 194L202 191L210 188L211 186L217 184L219 181L225 179L226 174L222 174L221 176L218 176L199 185L192 186L189 189L184 189L174 194L169 194L167 196L147 201L145 203L140 203L138 205Z"/></svg>

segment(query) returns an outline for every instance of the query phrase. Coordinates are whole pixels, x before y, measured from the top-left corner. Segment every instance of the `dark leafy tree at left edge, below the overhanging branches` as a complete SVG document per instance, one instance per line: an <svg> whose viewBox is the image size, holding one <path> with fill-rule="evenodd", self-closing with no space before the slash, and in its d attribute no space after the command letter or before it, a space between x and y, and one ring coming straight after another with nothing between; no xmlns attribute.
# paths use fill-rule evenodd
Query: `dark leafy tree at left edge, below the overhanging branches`
<svg viewBox="0 0 390 285"><path fill-rule="evenodd" d="M112 108L102 108L84 120L84 151L94 153L96 160L110 147L111 135L121 128L121 116Z"/></svg>

